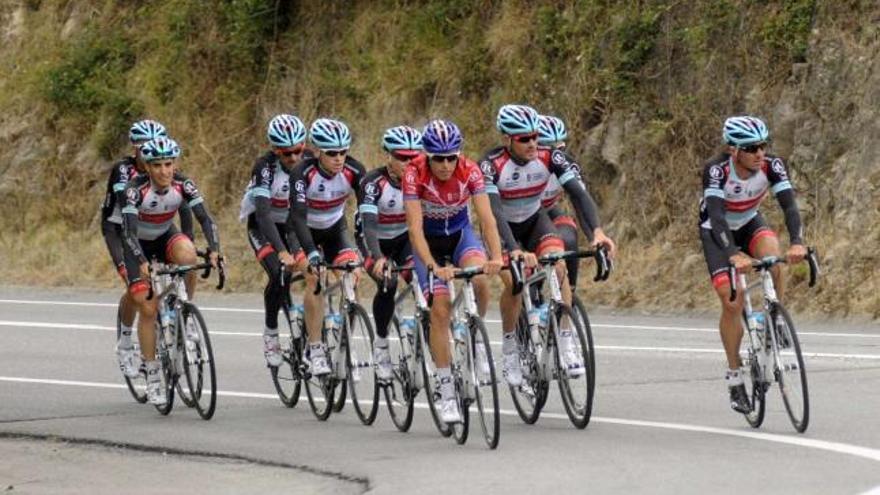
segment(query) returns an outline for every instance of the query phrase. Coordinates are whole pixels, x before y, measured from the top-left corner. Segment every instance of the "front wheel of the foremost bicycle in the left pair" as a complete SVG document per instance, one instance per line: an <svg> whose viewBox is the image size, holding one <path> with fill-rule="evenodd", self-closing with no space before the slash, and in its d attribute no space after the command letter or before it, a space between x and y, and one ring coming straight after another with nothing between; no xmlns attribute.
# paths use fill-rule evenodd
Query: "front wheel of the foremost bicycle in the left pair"
<svg viewBox="0 0 880 495"><path fill-rule="evenodd" d="M199 308L185 303L181 309L183 375L199 416L202 419L211 419L217 407L217 370L211 336Z"/></svg>

